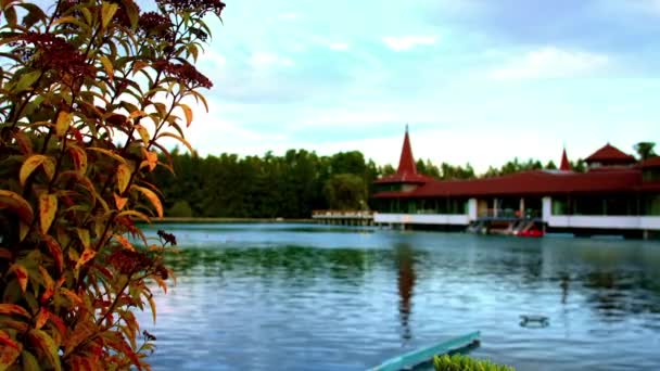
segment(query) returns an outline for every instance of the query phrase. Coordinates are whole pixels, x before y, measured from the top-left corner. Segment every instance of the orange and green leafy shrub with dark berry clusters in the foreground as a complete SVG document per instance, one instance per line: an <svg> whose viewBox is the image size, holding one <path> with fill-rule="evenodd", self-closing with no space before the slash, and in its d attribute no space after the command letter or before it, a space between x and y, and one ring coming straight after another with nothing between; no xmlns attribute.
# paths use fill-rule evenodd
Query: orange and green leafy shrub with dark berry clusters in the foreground
<svg viewBox="0 0 660 371"><path fill-rule="evenodd" d="M187 102L211 87L192 65L202 16L225 4L0 7L0 370L149 369L155 337L132 310L155 320L176 239L134 219L163 215L147 177L172 169L164 138L190 146Z"/></svg>

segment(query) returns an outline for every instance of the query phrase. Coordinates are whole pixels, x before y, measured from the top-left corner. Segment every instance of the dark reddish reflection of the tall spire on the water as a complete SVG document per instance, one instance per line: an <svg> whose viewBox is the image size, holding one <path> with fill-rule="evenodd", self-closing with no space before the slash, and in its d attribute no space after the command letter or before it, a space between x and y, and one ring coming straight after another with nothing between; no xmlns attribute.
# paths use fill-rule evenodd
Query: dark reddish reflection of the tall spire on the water
<svg viewBox="0 0 660 371"><path fill-rule="evenodd" d="M402 340L406 344L411 337L411 330L408 323L412 307L412 294L415 289L415 261L414 252L408 244L398 244L395 247L398 282L398 317L402 327Z"/></svg>

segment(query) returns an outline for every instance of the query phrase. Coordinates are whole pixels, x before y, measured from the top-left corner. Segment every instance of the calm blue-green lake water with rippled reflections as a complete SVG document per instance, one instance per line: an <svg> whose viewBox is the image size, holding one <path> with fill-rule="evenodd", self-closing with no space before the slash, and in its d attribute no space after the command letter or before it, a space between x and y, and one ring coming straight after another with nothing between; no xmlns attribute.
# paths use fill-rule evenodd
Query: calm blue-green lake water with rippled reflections
<svg viewBox="0 0 660 371"><path fill-rule="evenodd" d="M365 370L473 330L472 356L518 370L660 370L658 242L161 228L182 253L156 325L140 315L155 370Z"/></svg>

